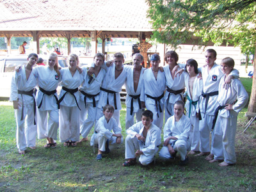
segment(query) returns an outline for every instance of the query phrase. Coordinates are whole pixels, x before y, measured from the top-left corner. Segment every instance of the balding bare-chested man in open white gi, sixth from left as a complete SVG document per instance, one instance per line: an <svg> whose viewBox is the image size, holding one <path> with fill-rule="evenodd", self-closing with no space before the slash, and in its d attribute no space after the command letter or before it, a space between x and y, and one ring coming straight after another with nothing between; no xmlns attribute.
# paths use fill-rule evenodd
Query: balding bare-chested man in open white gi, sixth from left
<svg viewBox="0 0 256 192"><path fill-rule="evenodd" d="M128 129L134 124L134 115L136 115L136 122L141 121L141 108L140 93L142 88L143 73L145 68L142 67L143 56L140 53L136 53L133 56L134 67L127 70L127 79L125 81L126 86L126 117L125 117L125 129Z"/></svg>

